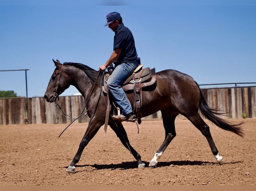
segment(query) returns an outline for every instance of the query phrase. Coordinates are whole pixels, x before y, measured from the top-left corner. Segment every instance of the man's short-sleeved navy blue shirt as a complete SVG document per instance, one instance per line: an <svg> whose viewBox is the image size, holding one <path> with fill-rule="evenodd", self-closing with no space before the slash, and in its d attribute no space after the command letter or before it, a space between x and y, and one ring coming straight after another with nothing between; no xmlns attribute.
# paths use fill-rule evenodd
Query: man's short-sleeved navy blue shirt
<svg viewBox="0 0 256 191"><path fill-rule="evenodd" d="M116 48L121 49L121 54L114 62L115 66L127 62L140 64L140 58L137 55L132 32L123 23L115 31L114 50Z"/></svg>

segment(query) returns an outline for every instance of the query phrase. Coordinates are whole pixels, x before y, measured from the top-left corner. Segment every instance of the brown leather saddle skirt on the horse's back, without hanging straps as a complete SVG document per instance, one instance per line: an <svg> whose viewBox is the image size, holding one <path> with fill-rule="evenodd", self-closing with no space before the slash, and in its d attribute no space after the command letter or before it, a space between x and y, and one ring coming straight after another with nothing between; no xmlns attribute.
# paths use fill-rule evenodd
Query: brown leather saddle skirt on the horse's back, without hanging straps
<svg viewBox="0 0 256 191"><path fill-rule="evenodd" d="M104 75L104 82L102 86L102 90L104 93L107 92L107 81L109 77L110 75L108 73ZM123 83L123 90L134 90L134 85L136 82L140 82L141 88L153 85L156 82L155 68L142 68L141 70L132 73L132 75L129 76Z"/></svg>

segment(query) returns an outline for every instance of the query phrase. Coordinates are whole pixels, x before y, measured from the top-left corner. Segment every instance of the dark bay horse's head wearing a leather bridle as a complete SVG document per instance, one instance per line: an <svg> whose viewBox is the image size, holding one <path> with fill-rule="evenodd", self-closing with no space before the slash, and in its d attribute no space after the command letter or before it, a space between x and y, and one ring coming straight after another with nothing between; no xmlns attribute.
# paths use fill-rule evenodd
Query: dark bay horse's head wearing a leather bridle
<svg viewBox="0 0 256 191"><path fill-rule="evenodd" d="M48 87L44 94L44 98L47 102L53 102L55 99L69 88L69 79L65 75L63 70L63 64L60 64L58 60L52 60L56 66L53 74L51 75Z"/></svg>

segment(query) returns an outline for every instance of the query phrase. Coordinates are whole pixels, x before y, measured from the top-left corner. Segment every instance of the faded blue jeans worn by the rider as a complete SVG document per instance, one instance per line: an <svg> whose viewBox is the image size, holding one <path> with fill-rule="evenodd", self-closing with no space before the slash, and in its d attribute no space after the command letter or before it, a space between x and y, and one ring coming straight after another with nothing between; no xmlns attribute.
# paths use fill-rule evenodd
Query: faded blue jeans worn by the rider
<svg viewBox="0 0 256 191"><path fill-rule="evenodd" d="M115 66L115 70L108 79L107 86L113 95L114 101L120 108L120 113L126 115L132 112L132 106L121 85L138 67L138 64L129 62Z"/></svg>

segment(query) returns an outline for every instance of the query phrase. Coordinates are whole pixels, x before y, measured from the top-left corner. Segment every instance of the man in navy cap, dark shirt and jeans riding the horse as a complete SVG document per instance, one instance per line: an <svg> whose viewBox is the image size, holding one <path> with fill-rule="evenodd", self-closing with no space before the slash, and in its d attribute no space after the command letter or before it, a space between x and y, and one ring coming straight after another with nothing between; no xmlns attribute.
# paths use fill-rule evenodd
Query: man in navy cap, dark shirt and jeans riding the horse
<svg viewBox="0 0 256 191"><path fill-rule="evenodd" d="M140 65L140 58L137 55L132 32L124 26L120 13L107 14L105 26L115 32L114 51L107 62L99 68L103 72L112 63L115 64L115 70L109 77L107 86L115 103L119 106L121 114L120 118L118 115L113 115L112 118L121 121L133 121L135 116L132 112L132 106L121 85Z"/></svg>

